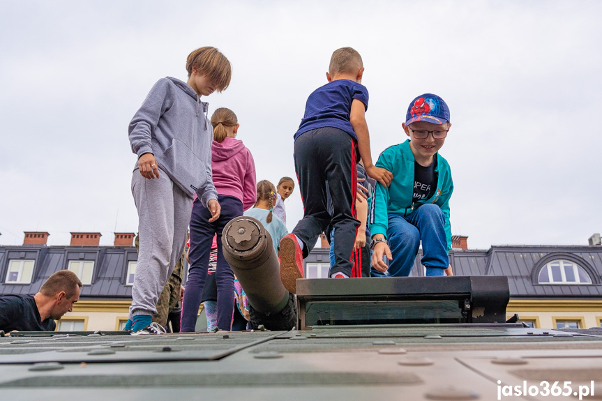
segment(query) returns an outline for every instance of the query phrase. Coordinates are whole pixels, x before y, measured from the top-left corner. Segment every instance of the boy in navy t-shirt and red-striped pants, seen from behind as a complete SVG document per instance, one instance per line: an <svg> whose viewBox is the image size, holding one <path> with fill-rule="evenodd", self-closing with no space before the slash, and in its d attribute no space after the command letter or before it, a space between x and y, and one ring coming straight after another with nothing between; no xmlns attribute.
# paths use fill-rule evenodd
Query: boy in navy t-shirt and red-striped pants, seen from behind
<svg viewBox="0 0 602 401"><path fill-rule="evenodd" d="M280 278L292 293L296 293L296 280L303 278L303 258L329 223L336 239L331 277L352 273L350 258L359 226L355 209L358 152L368 176L385 188L393 178L390 172L375 167L370 155L363 70L361 56L351 47L333 52L326 73L329 83L310 94L294 135L295 172L304 214L292 234L280 240ZM326 182L334 206L332 219L326 207Z"/></svg>

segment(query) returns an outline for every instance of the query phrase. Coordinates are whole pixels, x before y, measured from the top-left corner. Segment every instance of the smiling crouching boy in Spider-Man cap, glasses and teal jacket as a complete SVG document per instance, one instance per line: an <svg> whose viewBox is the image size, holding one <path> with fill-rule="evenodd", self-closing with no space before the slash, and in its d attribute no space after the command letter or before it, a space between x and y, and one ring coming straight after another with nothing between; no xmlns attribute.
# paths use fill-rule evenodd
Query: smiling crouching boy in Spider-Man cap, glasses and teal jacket
<svg viewBox="0 0 602 401"><path fill-rule="evenodd" d="M373 275L409 275L421 241L426 275L451 275L453 182L447 160L439 155L451 128L449 107L425 93L412 100L402 127L409 139L385 149L376 163L393 173L393 181L389 188L377 184L370 205Z"/></svg>

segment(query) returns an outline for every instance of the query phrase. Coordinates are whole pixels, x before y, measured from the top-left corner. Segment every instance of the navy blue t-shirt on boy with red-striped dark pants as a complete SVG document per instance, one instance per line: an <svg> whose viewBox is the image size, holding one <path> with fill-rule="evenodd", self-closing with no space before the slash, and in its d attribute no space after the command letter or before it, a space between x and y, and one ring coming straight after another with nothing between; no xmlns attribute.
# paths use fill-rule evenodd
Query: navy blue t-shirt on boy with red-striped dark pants
<svg viewBox="0 0 602 401"><path fill-rule="evenodd" d="M349 122L354 99L360 100L366 106L366 110L368 109L366 86L350 80L336 80L320 86L307 100L305 114L294 139L309 130L334 127L345 131L357 140L357 135Z"/></svg>

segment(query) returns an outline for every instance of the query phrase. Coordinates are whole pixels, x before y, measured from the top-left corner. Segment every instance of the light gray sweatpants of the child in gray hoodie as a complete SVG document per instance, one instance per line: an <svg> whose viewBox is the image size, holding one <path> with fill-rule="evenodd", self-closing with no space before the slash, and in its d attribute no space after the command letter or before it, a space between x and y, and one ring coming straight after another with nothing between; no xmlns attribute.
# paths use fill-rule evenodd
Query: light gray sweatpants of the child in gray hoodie
<svg viewBox="0 0 602 401"><path fill-rule="evenodd" d="M162 169L160 178L145 179L138 169L132 176L132 194L138 209L140 251L132 287L130 319L154 315L163 287L186 245L193 199Z"/></svg>

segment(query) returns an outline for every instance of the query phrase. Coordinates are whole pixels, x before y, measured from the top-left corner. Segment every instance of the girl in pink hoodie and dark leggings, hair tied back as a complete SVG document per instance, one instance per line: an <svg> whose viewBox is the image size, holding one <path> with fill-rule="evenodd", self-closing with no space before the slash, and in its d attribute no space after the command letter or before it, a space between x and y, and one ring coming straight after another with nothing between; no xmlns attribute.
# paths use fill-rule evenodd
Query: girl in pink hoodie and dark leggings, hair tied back
<svg viewBox="0 0 602 401"><path fill-rule="evenodd" d="M195 199L190 217L190 269L182 305L182 332L195 331L197 313L209 269L209 254L213 236L217 234L218 260L216 266L217 324L220 330L230 331L234 312L234 273L222 253L222 231L230 220L239 217L253 206L255 199L255 162L243 142L236 139L239 122L230 109L216 109L211 116L211 174L209 181L218 192L220 216L212 218L200 199Z"/></svg>

